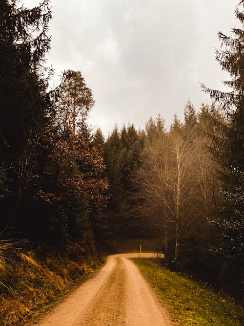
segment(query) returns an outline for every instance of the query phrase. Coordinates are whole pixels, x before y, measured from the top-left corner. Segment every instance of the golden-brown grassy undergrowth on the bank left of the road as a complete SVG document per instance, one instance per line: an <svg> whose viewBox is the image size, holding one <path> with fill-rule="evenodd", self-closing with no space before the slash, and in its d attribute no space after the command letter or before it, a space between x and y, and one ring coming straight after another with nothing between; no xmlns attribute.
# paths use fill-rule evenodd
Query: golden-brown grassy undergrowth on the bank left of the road
<svg viewBox="0 0 244 326"><path fill-rule="evenodd" d="M78 243L69 243L60 252L13 250L7 264L0 274L0 326L24 325L81 283L102 261Z"/></svg>

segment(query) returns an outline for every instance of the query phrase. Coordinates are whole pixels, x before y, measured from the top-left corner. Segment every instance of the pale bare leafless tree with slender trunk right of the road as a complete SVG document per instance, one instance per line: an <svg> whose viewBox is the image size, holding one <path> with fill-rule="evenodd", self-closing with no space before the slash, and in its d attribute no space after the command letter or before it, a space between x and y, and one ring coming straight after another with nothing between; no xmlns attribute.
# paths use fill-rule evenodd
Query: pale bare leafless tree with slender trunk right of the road
<svg viewBox="0 0 244 326"><path fill-rule="evenodd" d="M162 209L165 239L168 225L174 225L176 263L179 261L182 231L197 217L190 214L191 199L195 196L198 182L193 168L197 148L196 142L172 130L145 149L139 171L138 183L145 198L156 201Z"/></svg>

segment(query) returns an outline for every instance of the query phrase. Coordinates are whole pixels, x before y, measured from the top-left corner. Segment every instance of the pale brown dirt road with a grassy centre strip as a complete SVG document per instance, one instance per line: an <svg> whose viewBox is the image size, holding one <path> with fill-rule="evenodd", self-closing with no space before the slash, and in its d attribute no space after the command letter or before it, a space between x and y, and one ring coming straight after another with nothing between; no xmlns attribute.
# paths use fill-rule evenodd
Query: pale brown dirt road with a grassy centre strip
<svg viewBox="0 0 244 326"><path fill-rule="evenodd" d="M152 257L153 254L142 254ZM83 283L39 326L170 326L167 312L127 258L112 255L91 280Z"/></svg>

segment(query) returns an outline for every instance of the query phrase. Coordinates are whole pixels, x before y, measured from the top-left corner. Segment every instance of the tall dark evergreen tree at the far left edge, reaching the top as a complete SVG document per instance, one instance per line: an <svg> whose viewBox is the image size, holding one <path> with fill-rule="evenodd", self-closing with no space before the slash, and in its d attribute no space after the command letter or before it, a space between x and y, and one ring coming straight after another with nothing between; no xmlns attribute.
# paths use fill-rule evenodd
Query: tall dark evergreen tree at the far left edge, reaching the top
<svg viewBox="0 0 244 326"><path fill-rule="evenodd" d="M33 9L18 7L18 2L0 1L0 160L8 189L2 214L4 223L27 236L35 229L31 203L52 115L43 77L51 12L48 0Z"/></svg>

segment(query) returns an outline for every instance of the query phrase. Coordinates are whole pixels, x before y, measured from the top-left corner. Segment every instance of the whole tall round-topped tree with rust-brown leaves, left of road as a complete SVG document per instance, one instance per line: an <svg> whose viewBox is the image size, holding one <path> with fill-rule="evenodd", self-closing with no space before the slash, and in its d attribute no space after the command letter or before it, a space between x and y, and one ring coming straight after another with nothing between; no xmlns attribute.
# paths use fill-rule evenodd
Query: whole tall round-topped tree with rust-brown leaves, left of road
<svg viewBox="0 0 244 326"><path fill-rule="evenodd" d="M57 134L49 156L53 187L43 185L39 191L43 201L49 198L54 214L65 217L52 225L56 239L62 239L64 231L67 239L75 240L84 237L87 230L91 234L90 216L100 214L106 204L105 166L92 144L86 122L93 104L91 89L86 86L81 72L67 70L56 104Z"/></svg>

